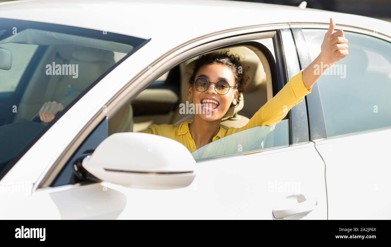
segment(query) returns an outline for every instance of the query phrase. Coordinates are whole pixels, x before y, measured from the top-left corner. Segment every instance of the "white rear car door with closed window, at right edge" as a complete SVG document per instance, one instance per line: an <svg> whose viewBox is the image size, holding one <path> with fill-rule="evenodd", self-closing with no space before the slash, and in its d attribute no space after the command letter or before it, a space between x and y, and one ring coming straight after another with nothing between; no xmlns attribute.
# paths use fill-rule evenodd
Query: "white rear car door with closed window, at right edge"
<svg viewBox="0 0 391 247"><path fill-rule="evenodd" d="M293 29L304 67L327 29L312 26ZM376 30L337 28L349 40L349 55L306 96L310 140L326 165L329 219L390 219L391 39Z"/></svg>

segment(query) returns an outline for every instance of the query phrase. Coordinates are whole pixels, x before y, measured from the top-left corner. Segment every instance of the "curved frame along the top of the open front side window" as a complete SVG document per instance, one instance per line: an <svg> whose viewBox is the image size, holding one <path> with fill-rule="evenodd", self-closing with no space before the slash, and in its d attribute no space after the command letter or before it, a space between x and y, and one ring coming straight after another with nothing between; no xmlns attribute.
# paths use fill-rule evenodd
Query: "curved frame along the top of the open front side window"
<svg viewBox="0 0 391 247"><path fill-rule="evenodd" d="M269 25L255 25L250 27L240 27L233 28L229 30L222 30L219 32L215 32L213 34L207 34L201 36L199 38L193 39L184 43L169 52L163 54L159 59L155 60L149 66L147 66L144 70L140 71L135 77L130 79L130 81L124 86L124 88L120 89L108 102L105 104L107 107L111 107L110 111L107 113L103 113L102 111L98 111L95 113L93 118L91 118L89 124L85 125L83 129L75 136L74 141L72 142L72 146L68 146L63 155L60 156L50 168L48 168L47 173L41 175L38 179L37 183L34 184L33 191L40 188L47 188L55 179L59 171L63 168L66 161L74 154L75 150L80 146L80 144L85 140L85 138L91 133L93 129L106 117L109 119L113 118L126 104L129 104L133 98L136 97L143 89L147 88L150 84L152 84L156 79L158 79L161 75L166 73L171 68L174 68L178 64L192 58L197 55L204 54L206 52L210 52L213 50L218 50L224 47L232 47L241 45L246 42L254 42L258 39L264 38L279 38L278 32L280 29L288 29L288 23L278 23L278 24L269 24ZM293 41L293 38L291 36ZM282 42L281 39L278 42ZM279 47L274 47L275 51L280 49L282 44ZM295 49L296 52L296 49ZM279 51L276 53L276 60L282 59L281 64L285 63L285 57L283 56L283 51ZM297 59L297 57L296 57ZM298 61L296 61L297 63ZM154 73L150 72L151 68L156 68ZM276 66L276 68L279 68ZM283 69L280 69L279 73L284 73L287 67L285 66ZM299 70L300 71L300 70ZM297 72L299 72L297 71ZM273 75L273 73L272 73ZM286 74L289 75L289 74ZM283 78L283 84L285 85L288 81L287 76L281 75L280 78ZM284 79L285 78L285 79ZM280 82L281 79L273 79L273 83ZM273 88L278 87L273 85ZM280 87L278 87L278 91ZM273 92L275 95L277 92ZM273 95L273 96L274 96ZM307 121L307 120L306 120ZM289 124L291 126L291 124ZM291 129L289 130L291 133ZM307 129L308 133L308 129ZM290 134L291 135L291 134ZM295 144L295 143L292 143ZM290 144L291 145L291 142ZM283 146L285 147L285 146ZM276 149L280 149L281 147L275 147ZM275 149L271 148L271 149ZM269 149L268 149L269 150ZM255 150L253 152L263 152L264 150ZM245 153L247 154L247 153ZM235 154L235 155L244 155L244 154ZM224 157L220 157L224 158Z"/></svg>

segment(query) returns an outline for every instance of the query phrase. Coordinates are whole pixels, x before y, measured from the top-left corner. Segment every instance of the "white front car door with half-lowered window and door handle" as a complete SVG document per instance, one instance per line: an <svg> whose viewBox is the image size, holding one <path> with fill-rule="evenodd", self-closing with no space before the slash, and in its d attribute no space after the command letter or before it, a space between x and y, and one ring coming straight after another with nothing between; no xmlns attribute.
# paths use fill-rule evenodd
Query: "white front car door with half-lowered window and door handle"
<svg viewBox="0 0 391 247"><path fill-rule="evenodd" d="M308 140L305 100L293 107L287 118L275 126L273 142L265 146L269 148L255 147L246 152L196 159L195 179L185 188L141 190L104 181L75 179L77 171L75 175L75 170L72 170L74 161L88 154L93 156L93 149L107 137L108 120L120 111L120 105L128 104L154 79L194 55L245 42L263 48L271 47L264 52L269 52L275 95L288 78L300 71L289 26L260 27L258 32L251 34L246 34L246 31L251 33L245 29L235 37L230 32L224 33L226 37L231 36L229 39L213 40L213 35L206 36L205 45L190 47L187 52L178 51L177 55L173 52L172 56L176 57L171 60L165 61L163 58L156 62L165 66L152 65L159 68L156 73L145 70L142 76L135 77L128 88L133 89L131 93L123 90L115 100L106 104L109 111L94 115L95 122L100 120L93 131L83 134L84 138L79 140L81 144L76 151L70 154L69 150L72 149L65 149L56 163L47 168L34 184L29 200L41 202L39 215L63 219L326 219L325 166L314 143ZM266 38L271 38L273 45L262 44ZM143 54L142 49L139 54ZM257 129L255 131L262 134ZM237 136L241 137L242 134L238 132ZM67 155L70 158L63 158ZM65 177L67 184L55 186L55 181L61 177ZM72 177L74 180L71 181Z"/></svg>

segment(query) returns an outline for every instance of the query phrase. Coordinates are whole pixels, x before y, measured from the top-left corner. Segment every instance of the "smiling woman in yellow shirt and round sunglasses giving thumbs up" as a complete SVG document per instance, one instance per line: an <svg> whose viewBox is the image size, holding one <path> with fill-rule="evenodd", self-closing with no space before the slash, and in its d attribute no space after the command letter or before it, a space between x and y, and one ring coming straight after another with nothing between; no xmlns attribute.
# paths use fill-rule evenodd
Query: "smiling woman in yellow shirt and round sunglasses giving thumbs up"
<svg viewBox="0 0 391 247"><path fill-rule="evenodd" d="M196 60L188 82L188 99L203 109L194 115L193 122L182 122L179 125L152 124L142 132L174 139L193 152L212 141L245 129L278 124L293 106L300 103L303 97L311 92L312 85L325 70L321 66L319 71L319 64L332 65L348 55L348 40L344 38L343 30L333 33L334 28L334 21L330 19L330 27L316 59L305 70L292 76L289 82L243 127L225 129L220 124L228 109L237 106L239 95L247 86L246 68L242 68L239 57L228 55L227 52L215 52L201 55Z"/></svg>

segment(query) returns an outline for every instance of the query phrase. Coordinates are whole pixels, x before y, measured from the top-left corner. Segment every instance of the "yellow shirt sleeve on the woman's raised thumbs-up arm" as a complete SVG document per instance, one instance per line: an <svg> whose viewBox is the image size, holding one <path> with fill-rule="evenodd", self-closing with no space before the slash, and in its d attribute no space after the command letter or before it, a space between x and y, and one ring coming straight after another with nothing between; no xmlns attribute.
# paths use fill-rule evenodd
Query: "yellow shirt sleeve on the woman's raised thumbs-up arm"
<svg viewBox="0 0 391 247"><path fill-rule="evenodd" d="M259 125L278 124L288 111L300 103L304 96L311 92L304 86L302 78L303 70L289 79L289 82L269 101L266 102L249 120L248 124L241 128L228 129L227 135L249 129Z"/></svg>

